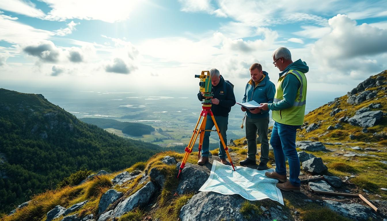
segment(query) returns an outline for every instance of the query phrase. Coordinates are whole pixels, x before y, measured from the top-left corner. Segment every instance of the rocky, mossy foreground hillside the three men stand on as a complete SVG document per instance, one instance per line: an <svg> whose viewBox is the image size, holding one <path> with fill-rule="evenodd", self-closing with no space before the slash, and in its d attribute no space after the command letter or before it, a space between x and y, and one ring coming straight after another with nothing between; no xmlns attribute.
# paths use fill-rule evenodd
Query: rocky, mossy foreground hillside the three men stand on
<svg viewBox="0 0 387 221"><path fill-rule="evenodd" d="M387 218L386 77L387 72L372 76L348 95L305 116L306 123L298 131L296 142L300 179L304 180L301 194L282 191L284 206L270 199L248 201L237 194L199 192L214 160L218 160L217 149L211 151L210 162L204 166L196 164L198 152L192 152L179 179L176 175L184 154L170 151L116 173L93 176L79 185L36 195L3 220L384 220ZM241 138L228 146L235 165L240 166L239 161L247 155L247 140ZM268 166L274 168L272 150L269 158ZM309 178L319 180L305 180ZM361 194L379 212L358 197L315 194L312 190Z"/></svg>

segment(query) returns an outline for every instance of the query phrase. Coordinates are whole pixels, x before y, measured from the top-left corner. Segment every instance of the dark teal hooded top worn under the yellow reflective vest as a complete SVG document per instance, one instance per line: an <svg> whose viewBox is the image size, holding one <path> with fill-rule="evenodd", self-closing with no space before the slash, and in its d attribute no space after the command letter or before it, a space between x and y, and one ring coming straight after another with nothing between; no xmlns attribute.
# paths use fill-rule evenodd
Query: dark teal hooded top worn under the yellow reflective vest
<svg viewBox="0 0 387 221"><path fill-rule="evenodd" d="M309 71L309 67L307 66L307 63L301 61L301 59L298 59L295 62L288 65L288 67L286 67L286 69L283 72L279 73L279 77L281 77L283 74L286 74L288 70L298 70L305 74ZM268 108L270 110L284 110L287 108L291 108L294 104L294 101L296 99L296 94L300 86L301 86L301 83L300 81L298 81L295 75L293 74L286 75L286 77L283 80L283 89L284 89L283 99L276 103L269 104Z"/></svg>

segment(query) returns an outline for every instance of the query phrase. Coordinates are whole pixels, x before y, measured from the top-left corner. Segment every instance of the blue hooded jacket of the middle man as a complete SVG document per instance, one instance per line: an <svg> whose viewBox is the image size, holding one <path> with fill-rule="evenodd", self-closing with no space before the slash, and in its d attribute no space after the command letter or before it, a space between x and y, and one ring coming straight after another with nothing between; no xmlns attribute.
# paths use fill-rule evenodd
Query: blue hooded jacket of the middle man
<svg viewBox="0 0 387 221"><path fill-rule="evenodd" d="M267 72L262 72L265 75L265 78L259 82L257 87L255 87L254 81L249 81L246 84L245 96L243 96L242 103L255 101L257 103L273 103L274 94L276 94L276 87L273 82L269 81L269 74ZM264 118L269 116L269 110L261 110L260 113L250 113L246 111L247 116L250 118Z"/></svg>

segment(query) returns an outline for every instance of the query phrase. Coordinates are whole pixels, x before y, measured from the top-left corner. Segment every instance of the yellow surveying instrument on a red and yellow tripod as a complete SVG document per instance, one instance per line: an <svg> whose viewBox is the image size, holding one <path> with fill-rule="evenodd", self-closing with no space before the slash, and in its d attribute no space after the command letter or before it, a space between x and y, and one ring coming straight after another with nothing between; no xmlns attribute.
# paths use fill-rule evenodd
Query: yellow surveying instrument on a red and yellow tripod
<svg viewBox="0 0 387 221"><path fill-rule="evenodd" d="M222 137L222 135L220 133L219 127L217 126L217 123L215 121L214 114L211 111L211 106L212 106L211 98L214 96L214 94L211 93L212 83L211 83L210 72L208 70L204 70L204 71L202 71L202 74L195 75L195 77L200 78L200 82L199 82L200 92L204 93L203 94L204 100L202 102L202 112L200 112L200 116L199 116L199 119L197 120L195 129L194 129L192 137L190 139L190 142L189 142L188 146L185 147L185 155L184 155L182 164L180 165L179 173L177 175L177 178L179 178L180 173L182 172L185 164L187 163L188 156L192 152L192 148L195 146L195 142L196 142L196 139L199 136L199 134L200 134L200 137L199 137L199 154L198 154L198 157L200 158L200 151L202 150L204 133L206 131L216 131L218 133L219 140L221 140L223 148L226 151L227 158L230 161L230 164L231 164L231 166L233 166L233 169L235 171L233 161L232 161L231 156L230 156L230 154L228 152L228 147L226 146L226 144L224 144L224 140L223 140L223 137ZM208 115L211 116L212 122L214 122L216 130L205 130L205 123L207 122L207 116ZM202 122L200 123L199 128L197 128L201 118L203 118ZM221 148L221 147L219 147L219 148Z"/></svg>

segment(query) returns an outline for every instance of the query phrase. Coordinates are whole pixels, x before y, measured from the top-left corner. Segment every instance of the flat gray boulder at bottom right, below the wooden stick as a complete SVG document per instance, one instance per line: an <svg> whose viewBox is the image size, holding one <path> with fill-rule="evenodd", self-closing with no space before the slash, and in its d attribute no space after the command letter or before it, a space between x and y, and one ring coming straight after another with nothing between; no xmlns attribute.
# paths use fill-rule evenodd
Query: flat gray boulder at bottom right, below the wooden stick
<svg viewBox="0 0 387 221"><path fill-rule="evenodd" d="M366 220L368 218L376 219L376 215L373 213L370 207L366 207L357 203L345 204L334 200L324 200L323 205L342 216L356 221Z"/></svg>

